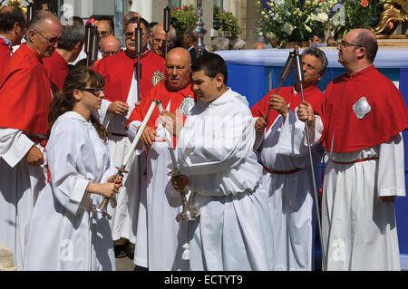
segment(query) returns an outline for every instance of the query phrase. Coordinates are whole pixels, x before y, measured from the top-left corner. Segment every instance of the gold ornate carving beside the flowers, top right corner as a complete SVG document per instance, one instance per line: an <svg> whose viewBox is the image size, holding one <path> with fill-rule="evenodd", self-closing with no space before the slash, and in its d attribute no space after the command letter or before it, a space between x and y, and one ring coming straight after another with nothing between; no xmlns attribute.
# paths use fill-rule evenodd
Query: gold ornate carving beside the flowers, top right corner
<svg viewBox="0 0 408 289"><path fill-rule="evenodd" d="M382 12L380 16L380 22L379 24L372 28L371 31L374 32L374 34L379 34L382 31L384 31L385 28L391 23L391 22L403 22L403 21L408 21L408 2L407 0L399 0L399 1L393 1L403 7L403 11L395 8L394 5L392 4L384 4L384 11Z"/></svg>

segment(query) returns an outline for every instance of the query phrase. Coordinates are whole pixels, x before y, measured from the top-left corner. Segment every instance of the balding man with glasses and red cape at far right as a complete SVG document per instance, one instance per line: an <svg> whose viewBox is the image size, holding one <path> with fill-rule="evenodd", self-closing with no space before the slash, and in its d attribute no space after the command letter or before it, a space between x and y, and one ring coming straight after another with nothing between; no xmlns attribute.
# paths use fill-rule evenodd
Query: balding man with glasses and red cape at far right
<svg viewBox="0 0 408 289"><path fill-rule="evenodd" d="M401 92L374 67L375 35L345 34L337 46L346 73L322 101L322 143L328 155L322 230L327 270L401 270L394 197L405 196ZM307 103L298 116L307 120Z"/></svg>

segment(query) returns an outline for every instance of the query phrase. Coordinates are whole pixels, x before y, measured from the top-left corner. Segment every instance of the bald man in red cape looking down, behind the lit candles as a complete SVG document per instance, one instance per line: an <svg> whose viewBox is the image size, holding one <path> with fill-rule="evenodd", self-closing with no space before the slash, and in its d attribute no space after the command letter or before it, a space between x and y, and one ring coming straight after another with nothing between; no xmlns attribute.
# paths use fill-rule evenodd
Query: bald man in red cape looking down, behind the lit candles
<svg viewBox="0 0 408 289"><path fill-rule="evenodd" d="M175 217L181 212L180 194L172 190L168 165L170 153L164 130L176 131L194 105L194 93L190 88L190 58L184 48L173 48L166 57L165 82L160 82L141 100L131 114L129 134L134 137L151 101L161 101L164 112L154 110L141 136L141 143L149 149L147 155L147 190L141 191L146 200L147 219L142 224L141 209L136 240L134 262L150 270L186 270L188 261L182 260L181 246L185 243L183 222ZM176 121L176 119L178 121ZM163 126L162 123L165 123ZM177 142L173 138L173 145ZM146 214L146 213L145 213ZM146 232L144 232L145 230Z"/></svg>

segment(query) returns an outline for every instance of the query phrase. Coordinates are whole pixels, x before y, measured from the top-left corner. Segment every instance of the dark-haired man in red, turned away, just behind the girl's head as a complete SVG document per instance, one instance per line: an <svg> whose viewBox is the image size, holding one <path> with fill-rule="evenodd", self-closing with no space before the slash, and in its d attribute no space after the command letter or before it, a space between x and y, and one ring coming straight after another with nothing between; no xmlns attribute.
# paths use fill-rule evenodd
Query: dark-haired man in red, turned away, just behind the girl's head
<svg viewBox="0 0 408 289"><path fill-rule="evenodd" d="M58 47L51 57L44 58L44 70L50 79L53 93L63 90L63 82L68 74L68 63L72 63L81 53L85 42L85 27L74 24L63 26L63 34Z"/></svg>

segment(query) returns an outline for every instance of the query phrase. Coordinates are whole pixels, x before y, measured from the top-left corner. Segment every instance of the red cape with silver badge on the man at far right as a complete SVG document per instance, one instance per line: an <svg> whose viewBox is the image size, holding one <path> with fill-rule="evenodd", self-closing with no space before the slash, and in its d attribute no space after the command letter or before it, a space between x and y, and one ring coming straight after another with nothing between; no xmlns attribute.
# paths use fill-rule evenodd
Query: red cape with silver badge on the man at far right
<svg viewBox="0 0 408 289"><path fill-rule="evenodd" d="M359 120L353 110L362 97L371 111ZM353 75L345 73L327 85L322 101L326 151L366 149L391 140L408 127L407 109L393 82L370 65ZM335 140L332 146L332 139Z"/></svg>

